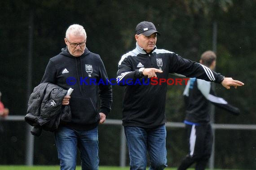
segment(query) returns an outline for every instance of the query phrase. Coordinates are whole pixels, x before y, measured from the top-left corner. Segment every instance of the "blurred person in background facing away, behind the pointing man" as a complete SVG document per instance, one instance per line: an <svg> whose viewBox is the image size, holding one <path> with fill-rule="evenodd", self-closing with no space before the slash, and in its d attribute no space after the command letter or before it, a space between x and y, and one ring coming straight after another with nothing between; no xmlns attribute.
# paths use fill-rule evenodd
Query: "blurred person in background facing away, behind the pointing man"
<svg viewBox="0 0 256 170"><path fill-rule="evenodd" d="M205 51L201 55L200 64L214 70L216 54ZM186 170L195 164L195 170L205 170L212 153L212 126L210 123L211 103L233 115L239 115L240 110L230 105L223 98L216 96L211 82L197 78L190 78L185 90L184 99L186 106L185 128L189 146L189 153L181 162L178 170Z"/></svg>

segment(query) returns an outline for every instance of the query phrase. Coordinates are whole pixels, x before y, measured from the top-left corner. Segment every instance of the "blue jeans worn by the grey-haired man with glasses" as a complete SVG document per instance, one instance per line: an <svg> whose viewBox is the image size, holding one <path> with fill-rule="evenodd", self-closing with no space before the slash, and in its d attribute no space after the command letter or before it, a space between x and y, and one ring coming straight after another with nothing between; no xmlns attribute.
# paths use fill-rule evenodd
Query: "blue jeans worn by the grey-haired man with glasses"
<svg viewBox="0 0 256 170"><path fill-rule="evenodd" d="M61 170L75 170L77 148L80 151L82 170L98 170L98 128L88 131L60 127L55 142Z"/></svg>

